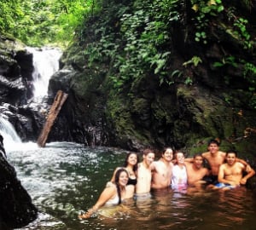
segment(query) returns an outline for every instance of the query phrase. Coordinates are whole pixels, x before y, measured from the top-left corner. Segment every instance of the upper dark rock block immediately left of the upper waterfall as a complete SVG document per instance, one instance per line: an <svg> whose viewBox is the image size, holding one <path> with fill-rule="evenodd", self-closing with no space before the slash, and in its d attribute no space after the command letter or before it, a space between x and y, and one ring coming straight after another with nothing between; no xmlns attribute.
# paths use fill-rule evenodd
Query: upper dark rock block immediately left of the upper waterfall
<svg viewBox="0 0 256 230"><path fill-rule="evenodd" d="M14 106L26 103L32 96L32 54L9 38L0 37L0 102Z"/></svg>

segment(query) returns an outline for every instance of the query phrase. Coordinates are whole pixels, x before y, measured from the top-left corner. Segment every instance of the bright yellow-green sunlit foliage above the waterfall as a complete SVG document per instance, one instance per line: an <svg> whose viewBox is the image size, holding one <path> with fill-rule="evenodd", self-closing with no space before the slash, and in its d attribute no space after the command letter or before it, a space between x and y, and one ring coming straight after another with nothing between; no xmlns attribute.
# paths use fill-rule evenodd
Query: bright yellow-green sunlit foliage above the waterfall
<svg viewBox="0 0 256 230"><path fill-rule="evenodd" d="M94 0L8 0L0 4L0 32L8 32L27 45L67 45Z"/></svg>

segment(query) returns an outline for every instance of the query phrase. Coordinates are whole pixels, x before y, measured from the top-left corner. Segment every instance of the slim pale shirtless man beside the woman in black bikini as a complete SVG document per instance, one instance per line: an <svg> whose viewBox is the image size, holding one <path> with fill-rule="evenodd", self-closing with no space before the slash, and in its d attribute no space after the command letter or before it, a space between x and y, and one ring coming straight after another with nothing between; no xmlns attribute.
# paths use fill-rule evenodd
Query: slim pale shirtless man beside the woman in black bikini
<svg viewBox="0 0 256 230"><path fill-rule="evenodd" d="M149 195L151 188L151 169L150 164L154 161L154 152L151 149L143 151L143 162L137 165L137 185L136 195Z"/></svg>

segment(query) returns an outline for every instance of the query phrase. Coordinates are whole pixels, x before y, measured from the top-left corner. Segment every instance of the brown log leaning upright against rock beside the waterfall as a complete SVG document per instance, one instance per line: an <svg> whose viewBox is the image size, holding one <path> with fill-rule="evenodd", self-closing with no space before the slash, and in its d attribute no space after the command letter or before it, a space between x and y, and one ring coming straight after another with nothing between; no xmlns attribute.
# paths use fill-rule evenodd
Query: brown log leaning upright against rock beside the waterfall
<svg viewBox="0 0 256 230"><path fill-rule="evenodd" d="M55 118L57 118L59 112L61 111L61 107L64 102L67 100L68 94L64 93L63 91L59 90L55 95L55 100L52 106L49 109L48 118L44 124L44 129L42 129L41 134L38 137L38 146L45 147L45 143L47 141L49 132L55 123Z"/></svg>

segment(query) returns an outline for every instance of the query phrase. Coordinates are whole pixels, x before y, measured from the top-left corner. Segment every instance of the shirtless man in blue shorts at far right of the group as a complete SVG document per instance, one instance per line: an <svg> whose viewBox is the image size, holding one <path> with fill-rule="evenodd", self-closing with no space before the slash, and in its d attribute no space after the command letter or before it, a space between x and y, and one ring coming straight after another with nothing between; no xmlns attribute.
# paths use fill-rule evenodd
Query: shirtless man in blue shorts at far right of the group
<svg viewBox="0 0 256 230"><path fill-rule="evenodd" d="M218 170L218 184L214 188L223 188L224 190L245 185L247 179L255 175L255 171L251 167L246 167L236 161L237 153L230 151L226 153L227 163L221 164ZM249 168L249 170L247 170ZM243 172L247 175L242 176Z"/></svg>

